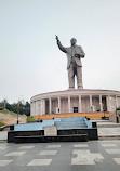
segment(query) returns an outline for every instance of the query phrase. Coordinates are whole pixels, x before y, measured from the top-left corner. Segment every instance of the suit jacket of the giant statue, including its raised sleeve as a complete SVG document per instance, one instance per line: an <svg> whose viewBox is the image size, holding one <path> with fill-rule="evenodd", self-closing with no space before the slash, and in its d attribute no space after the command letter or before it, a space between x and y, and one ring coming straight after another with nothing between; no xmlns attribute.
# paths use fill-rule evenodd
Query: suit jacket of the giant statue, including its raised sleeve
<svg viewBox="0 0 120 171"><path fill-rule="evenodd" d="M85 54L80 45L65 48L59 40L57 40L57 45L67 55L67 69L70 67L72 56L75 56L76 64L82 67L81 57L83 58ZM76 55L79 55L79 57L76 57Z"/></svg>

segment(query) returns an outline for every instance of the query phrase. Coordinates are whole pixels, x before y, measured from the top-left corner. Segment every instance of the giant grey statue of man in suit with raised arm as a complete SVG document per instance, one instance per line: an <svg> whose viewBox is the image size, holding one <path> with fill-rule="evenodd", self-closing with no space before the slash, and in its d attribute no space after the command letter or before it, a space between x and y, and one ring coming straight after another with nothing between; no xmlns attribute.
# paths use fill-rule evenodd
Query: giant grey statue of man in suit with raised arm
<svg viewBox="0 0 120 171"><path fill-rule="evenodd" d="M81 58L83 58L85 54L82 48L76 44L77 40L75 38L70 40L71 47L69 48L63 47L57 36L56 41L59 50L67 55L69 89L75 89L75 76L77 76L78 89L83 89Z"/></svg>

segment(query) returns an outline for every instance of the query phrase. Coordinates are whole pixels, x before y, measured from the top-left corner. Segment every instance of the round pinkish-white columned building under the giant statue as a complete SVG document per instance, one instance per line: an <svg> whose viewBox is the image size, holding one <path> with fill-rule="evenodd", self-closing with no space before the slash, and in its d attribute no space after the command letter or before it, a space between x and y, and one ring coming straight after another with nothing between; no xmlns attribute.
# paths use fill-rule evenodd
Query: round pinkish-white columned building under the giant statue
<svg viewBox="0 0 120 171"><path fill-rule="evenodd" d="M120 107L120 92L74 89L42 93L31 97L30 115L115 111Z"/></svg>

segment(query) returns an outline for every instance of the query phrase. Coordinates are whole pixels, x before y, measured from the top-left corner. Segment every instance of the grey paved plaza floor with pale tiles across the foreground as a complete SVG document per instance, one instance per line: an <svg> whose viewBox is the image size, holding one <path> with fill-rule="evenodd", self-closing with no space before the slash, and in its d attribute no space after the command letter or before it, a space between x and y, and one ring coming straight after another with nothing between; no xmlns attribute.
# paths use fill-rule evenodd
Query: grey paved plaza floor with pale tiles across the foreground
<svg viewBox="0 0 120 171"><path fill-rule="evenodd" d="M0 170L120 171L120 141L0 143Z"/></svg>

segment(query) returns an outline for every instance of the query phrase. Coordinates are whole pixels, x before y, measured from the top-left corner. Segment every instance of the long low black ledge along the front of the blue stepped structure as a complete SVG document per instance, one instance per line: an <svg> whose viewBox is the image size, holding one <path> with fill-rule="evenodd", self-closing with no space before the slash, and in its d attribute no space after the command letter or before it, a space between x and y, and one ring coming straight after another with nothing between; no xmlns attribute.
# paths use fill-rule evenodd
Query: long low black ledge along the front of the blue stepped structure
<svg viewBox="0 0 120 171"><path fill-rule="evenodd" d="M15 143L88 142L88 134L15 136Z"/></svg>

